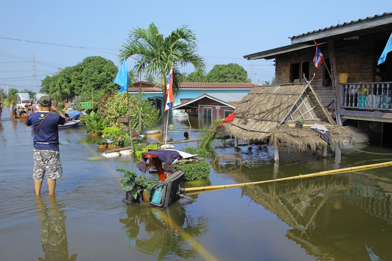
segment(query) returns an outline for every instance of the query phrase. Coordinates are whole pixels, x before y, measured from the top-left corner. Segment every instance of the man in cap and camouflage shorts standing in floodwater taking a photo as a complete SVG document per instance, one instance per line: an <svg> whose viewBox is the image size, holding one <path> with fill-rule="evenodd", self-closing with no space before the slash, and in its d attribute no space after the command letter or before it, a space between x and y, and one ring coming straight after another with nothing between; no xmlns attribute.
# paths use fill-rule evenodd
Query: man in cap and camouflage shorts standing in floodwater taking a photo
<svg viewBox="0 0 392 261"><path fill-rule="evenodd" d="M35 194L40 194L42 181L46 173L49 195L53 195L56 188L56 179L63 176L58 146L58 125L67 123L67 118L52 106L52 100L48 95L40 98L39 105L39 111L30 114L25 121L25 124L32 126L34 131L33 178Z"/></svg>

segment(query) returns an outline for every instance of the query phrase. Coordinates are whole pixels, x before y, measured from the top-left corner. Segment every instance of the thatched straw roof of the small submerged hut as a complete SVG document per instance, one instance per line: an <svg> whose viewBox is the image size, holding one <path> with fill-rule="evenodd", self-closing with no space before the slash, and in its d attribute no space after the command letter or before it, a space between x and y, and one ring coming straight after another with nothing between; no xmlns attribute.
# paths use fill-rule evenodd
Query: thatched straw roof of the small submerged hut
<svg viewBox="0 0 392 261"><path fill-rule="evenodd" d="M311 130L314 123L329 130L334 144L355 135L349 128L336 125L310 83L253 87L234 112L234 120L223 124L225 132L249 142L278 142L315 150L326 142ZM301 129L294 127L298 119L304 121Z"/></svg>

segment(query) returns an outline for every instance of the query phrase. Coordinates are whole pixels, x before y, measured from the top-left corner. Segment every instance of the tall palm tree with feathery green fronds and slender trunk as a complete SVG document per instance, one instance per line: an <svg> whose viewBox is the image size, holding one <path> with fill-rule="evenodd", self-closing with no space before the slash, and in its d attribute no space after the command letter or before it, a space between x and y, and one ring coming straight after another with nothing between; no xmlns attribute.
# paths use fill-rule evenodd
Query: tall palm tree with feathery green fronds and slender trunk
<svg viewBox="0 0 392 261"><path fill-rule="evenodd" d="M119 59L136 56L134 70L145 74L157 75L162 86L163 102L166 104L166 81L173 67L173 95L179 91L179 79L181 78L179 67L193 65L195 72L204 73L204 59L196 54L196 35L183 25L164 38L159 33L154 23L148 29L136 28L129 33L127 44L120 49ZM132 57L133 58L133 57ZM166 137L166 111L163 116L163 137Z"/></svg>

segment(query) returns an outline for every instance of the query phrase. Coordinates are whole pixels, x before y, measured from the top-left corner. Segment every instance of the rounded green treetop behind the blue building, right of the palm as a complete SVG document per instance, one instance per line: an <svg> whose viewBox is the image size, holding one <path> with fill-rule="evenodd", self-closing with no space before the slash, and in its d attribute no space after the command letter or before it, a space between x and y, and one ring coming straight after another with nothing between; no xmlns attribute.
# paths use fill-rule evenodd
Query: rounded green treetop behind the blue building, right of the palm
<svg viewBox="0 0 392 261"><path fill-rule="evenodd" d="M204 79L205 82L250 82L245 69L233 63L215 65Z"/></svg>

